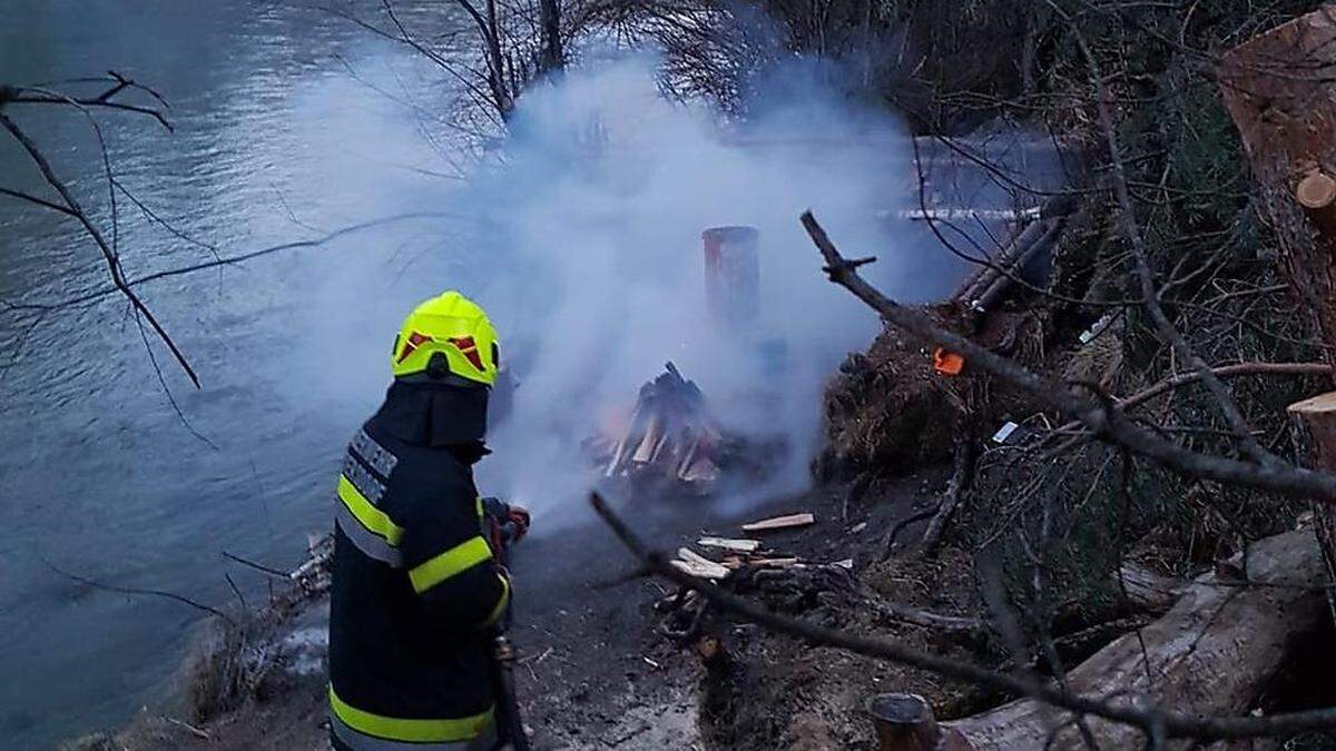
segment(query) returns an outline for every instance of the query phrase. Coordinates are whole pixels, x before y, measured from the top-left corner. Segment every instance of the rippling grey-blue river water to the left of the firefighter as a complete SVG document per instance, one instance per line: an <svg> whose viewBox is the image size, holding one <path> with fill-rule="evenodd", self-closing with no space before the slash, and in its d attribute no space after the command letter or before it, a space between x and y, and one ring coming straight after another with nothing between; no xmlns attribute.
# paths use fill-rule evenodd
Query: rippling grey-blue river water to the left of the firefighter
<svg viewBox="0 0 1336 751"><path fill-rule="evenodd" d="M337 3L335 3L337 4ZM411 51L302 1L0 0L0 82L115 68L170 102L175 132L99 114L123 196L130 277L394 214L441 208L449 159L422 123L450 91ZM337 4L375 17L378 3ZM398 3L414 23L444 4ZM433 19L429 16L440 16ZM96 140L69 110L11 106L80 200L110 227ZM0 138L0 184L43 192ZM49 748L168 695L199 612L72 581L167 589L223 607L301 531L327 527L342 444L385 384L394 301L430 289L440 219L403 219L140 289L198 369L195 390L123 298L0 313L0 746ZM433 231L437 230L437 231ZM448 262L448 261L446 261ZM107 285L73 222L0 199L0 299L56 302ZM195 434L198 433L198 436Z"/></svg>

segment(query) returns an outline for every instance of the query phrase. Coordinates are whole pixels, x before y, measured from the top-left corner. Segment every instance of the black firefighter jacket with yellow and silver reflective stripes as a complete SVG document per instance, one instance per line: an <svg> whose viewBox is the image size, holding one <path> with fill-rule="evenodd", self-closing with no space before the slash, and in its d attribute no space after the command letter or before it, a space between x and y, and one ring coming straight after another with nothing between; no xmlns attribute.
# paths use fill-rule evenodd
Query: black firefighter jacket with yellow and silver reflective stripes
<svg viewBox="0 0 1336 751"><path fill-rule="evenodd" d="M490 627L510 584L482 535L477 457L405 441L387 412L353 438L338 480L333 734L351 748L486 747Z"/></svg>

